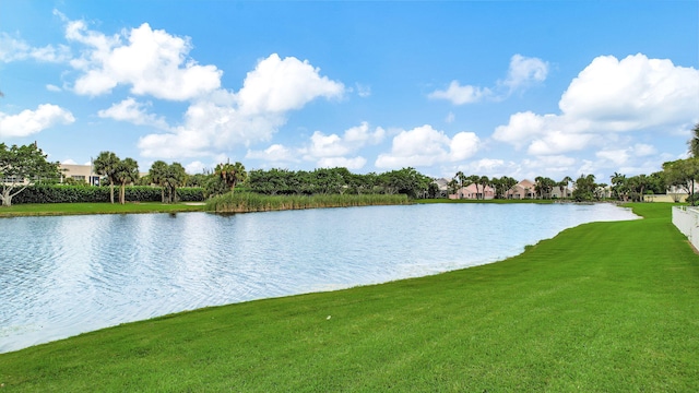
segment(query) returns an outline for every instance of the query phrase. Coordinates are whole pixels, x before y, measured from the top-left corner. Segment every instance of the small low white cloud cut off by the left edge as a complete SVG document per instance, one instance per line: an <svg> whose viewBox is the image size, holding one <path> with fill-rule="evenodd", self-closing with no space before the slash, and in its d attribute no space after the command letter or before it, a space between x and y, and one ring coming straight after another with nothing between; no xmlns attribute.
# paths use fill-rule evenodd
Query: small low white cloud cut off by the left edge
<svg viewBox="0 0 699 393"><path fill-rule="evenodd" d="M0 136L27 136L56 124L75 121L73 114L57 105L42 104L36 110L25 109L16 115L0 112Z"/></svg>

